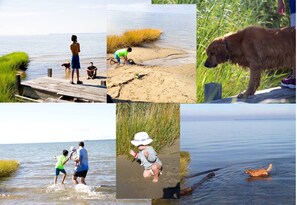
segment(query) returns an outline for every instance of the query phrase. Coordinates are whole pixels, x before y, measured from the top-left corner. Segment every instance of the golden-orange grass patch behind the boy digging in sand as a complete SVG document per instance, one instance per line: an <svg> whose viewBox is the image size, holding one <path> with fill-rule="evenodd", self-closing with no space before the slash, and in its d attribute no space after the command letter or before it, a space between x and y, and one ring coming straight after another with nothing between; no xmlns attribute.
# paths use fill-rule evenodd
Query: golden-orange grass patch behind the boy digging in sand
<svg viewBox="0 0 297 205"><path fill-rule="evenodd" d="M161 33L159 29L136 29L128 30L122 35L108 35L107 53L113 53L121 48L154 42L160 38Z"/></svg>

